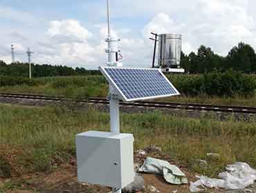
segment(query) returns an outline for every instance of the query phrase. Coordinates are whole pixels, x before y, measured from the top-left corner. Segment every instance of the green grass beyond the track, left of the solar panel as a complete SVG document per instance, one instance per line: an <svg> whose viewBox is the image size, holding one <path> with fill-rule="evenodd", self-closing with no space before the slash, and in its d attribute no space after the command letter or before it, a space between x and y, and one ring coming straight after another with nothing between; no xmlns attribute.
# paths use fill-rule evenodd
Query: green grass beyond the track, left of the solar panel
<svg viewBox="0 0 256 193"><path fill-rule="evenodd" d="M1 86L0 92L48 94L82 97L107 96L108 85L102 76L46 77L34 79L37 85Z"/></svg>

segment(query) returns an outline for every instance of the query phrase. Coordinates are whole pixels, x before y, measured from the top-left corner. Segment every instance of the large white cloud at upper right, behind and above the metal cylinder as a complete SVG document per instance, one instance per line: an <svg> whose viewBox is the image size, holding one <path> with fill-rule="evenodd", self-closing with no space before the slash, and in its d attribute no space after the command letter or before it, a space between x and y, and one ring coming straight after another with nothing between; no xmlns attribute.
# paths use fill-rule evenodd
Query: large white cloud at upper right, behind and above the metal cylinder
<svg viewBox="0 0 256 193"><path fill-rule="evenodd" d="M163 1L161 1L163 2ZM185 3L185 1L182 1ZM256 15L248 13L248 1L244 0L195 0L188 6L196 9L180 12L179 17L172 17L173 12L156 14L143 28L143 36L149 37L151 31L160 33L183 34L183 51L195 51L200 45L210 46L215 52L226 55L232 46L245 41L256 47Z"/></svg>

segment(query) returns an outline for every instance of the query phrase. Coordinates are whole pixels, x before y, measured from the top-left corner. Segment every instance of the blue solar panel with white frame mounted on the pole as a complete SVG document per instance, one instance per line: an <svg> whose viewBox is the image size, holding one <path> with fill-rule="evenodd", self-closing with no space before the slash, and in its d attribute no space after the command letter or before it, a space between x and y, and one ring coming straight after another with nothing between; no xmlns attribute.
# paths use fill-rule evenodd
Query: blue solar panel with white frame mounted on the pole
<svg viewBox="0 0 256 193"><path fill-rule="evenodd" d="M179 95L158 69L100 67L100 71L125 101Z"/></svg>

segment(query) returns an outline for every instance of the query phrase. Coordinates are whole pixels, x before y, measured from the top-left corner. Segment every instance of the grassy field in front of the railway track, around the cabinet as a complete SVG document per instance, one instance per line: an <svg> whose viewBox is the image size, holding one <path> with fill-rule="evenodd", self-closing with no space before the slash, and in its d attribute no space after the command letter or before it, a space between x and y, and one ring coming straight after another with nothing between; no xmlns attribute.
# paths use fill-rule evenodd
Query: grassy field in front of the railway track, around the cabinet
<svg viewBox="0 0 256 193"><path fill-rule="evenodd" d="M6 178L13 171L52 172L75 157L75 134L109 131L109 114L93 109L0 105L0 117L0 176ZM188 119L161 112L121 114L120 120L122 132L134 134L136 150L156 144L193 174L216 176L234 161L256 167L254 122ZM210 158L207 153L221 156ZM197 159L208 161L208 167L200 167Z"/></svg>

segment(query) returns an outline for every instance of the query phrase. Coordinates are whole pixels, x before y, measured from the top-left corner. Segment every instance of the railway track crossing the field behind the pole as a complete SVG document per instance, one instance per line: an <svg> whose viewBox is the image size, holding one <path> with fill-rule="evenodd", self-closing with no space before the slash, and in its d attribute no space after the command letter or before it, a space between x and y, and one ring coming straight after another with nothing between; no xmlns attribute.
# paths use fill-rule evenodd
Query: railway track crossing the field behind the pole
<svg viewBox="0 0 256 193"><path fill-rule="evenodd" d="M91 103L91 104L104 104L108 105L109 101L104 98L89 98L89 99L72 99L65 98L64 96L47 96L38 94L11 94L0 93L0 97L10 99L32 99L39 101L71 101L78 103ZM167 103L167 102L155 102L155 101L137 101L134 103L120 102L122 106L138 107L138 108L155 108L155 109L174 109L174 110L199 110L205 112L230 112L230 113L244 113L244 114L256 114L255 107L246 106L227 106L227 105L206 105L199 103Z"/></svg>

